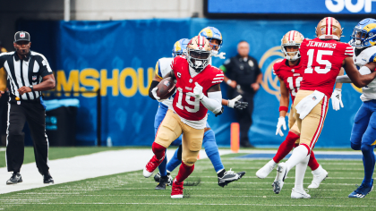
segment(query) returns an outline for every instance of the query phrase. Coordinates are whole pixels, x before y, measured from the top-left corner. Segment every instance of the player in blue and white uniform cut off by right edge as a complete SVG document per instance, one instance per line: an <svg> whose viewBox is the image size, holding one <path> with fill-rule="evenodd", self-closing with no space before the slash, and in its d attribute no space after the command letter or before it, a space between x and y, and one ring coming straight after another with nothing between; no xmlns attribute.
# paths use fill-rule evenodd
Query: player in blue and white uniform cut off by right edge
<svg viewBox="0 0 376 211"><path fill-rule="evenodd" d="M376 66L376 20L368 18L360 21L353 30L350 45L355 47L353 58L355 65L360 67L359 72L362 75L373 72ZM352 82L346 75L339 76L337 81ZM362 150L364 179L361 186L348 195L349 198L364 198L373 188L372 174L375 166L373 149L376 144L376 80L372 80L362 90L363 95L360 98L363 104L355 115L350 141L351 148Z"/></svg>

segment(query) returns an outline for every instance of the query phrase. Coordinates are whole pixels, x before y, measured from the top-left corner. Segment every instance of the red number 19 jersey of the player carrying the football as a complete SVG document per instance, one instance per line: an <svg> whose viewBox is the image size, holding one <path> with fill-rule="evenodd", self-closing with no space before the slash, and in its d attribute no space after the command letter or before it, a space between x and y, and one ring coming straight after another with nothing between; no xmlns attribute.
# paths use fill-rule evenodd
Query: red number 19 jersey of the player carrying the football
<svg viewBox="0 0 376 211"><path fill-rule="evenodd" d="M223 81L223 72L209 64L192 77L189 64L182 55L175 57L172 69L176 78L176 95L173 102L175 113L189 121L202 120L208 113L208 108L201 104L199 98L187 96L187 93L193 92L197 82L202 87L202 93L208 97L208 89Z"/></svg>

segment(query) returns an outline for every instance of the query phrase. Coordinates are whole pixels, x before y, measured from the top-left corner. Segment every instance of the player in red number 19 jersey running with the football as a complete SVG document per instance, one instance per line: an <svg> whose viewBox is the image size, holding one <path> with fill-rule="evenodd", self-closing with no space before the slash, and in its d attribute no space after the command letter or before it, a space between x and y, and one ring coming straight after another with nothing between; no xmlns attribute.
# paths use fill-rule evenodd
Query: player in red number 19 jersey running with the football
<svg viewBox="0 0 376 211"><path fill-rule="evenodd" d="M173 181L171 198L183 198L184 180L193 172L201 150L208 110L214 114L222 113L219 84L224 74L209 64L211 50L208 39L202 36L192 38L186 56L176 56L172 71L164 77L176 80L176 94L159 126L152 145L154 156L145 166L143 175L152 175L165 158L166 148L183 133L182 165Z"/></svg>

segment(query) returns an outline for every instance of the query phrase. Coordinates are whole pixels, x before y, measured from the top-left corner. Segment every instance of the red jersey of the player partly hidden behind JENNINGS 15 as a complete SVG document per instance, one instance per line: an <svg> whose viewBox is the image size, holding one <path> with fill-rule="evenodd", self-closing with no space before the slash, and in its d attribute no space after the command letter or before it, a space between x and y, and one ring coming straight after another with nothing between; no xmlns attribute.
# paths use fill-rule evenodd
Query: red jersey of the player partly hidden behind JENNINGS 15
<svg viewBox="0 0 376 211"><path fill-rule="evenodd" d="M286 59L273 64L273 72L280 80L285 82L293 103L296 93L300 88L300 82L303 80L302 75L300 74L301 69L302 65L300 62L294 66L289 66Z"/></svg>

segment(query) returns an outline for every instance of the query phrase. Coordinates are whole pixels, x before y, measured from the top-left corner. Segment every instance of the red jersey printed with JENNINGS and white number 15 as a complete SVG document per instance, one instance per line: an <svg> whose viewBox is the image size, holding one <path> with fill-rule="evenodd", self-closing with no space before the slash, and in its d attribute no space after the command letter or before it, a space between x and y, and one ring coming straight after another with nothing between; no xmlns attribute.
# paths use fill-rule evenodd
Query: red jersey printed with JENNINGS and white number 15
<svg viewBox="0 0 376 211"><path fill-rule="evenodd" d="M318 90L330 97L336 77L347 56L354 55L352 46L334 39L304 39L300 46L303 81L300 89Z"/></svg>

